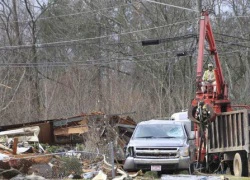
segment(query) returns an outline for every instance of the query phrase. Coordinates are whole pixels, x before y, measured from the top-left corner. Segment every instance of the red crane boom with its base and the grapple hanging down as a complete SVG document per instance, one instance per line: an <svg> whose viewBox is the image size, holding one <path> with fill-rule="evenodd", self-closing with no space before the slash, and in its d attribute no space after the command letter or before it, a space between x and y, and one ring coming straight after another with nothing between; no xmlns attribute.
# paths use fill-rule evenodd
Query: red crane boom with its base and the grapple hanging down
<svg viewBox="0 0 250 180"><path fill-rule="evenodd" d="M197 74L196 74L196 96L192 100L191 107L188 111L189 119L194 121L196 132L197 162L204 161L206 154L206 129L208 124L215 120L216 114L232 111L231 101L228 99L228 86L225 83L222 73L219 55L216 49L215 39L209 20L208 11L201 13L199 22L199 44L197 58ZM205 45L209 45L209 52L213 57L215 64L214 74L216 81L216 92L213 87L207 86L207 91L202 89L203 62ZM210 85L211 86L211 85ZM210 90L209 90L210 89Z"/></svg>

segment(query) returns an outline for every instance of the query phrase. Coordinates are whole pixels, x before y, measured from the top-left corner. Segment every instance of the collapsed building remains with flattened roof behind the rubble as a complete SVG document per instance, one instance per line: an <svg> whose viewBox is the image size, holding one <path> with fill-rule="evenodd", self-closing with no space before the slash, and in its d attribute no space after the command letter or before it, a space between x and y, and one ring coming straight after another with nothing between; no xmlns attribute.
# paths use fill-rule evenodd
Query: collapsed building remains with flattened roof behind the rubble
<svg viewBox="0 0 250 180"><path fill-rule="evenodd" d="M102 112L93 112L68 118L1 126L0 143L3 135L12 137L18 134L17 131L26 130L23 134L25 134L25 138L28 138L28 133L30 133L27 131L28 128L29 130L36 129L37 141L43 144L84 144L89 140L91 134L96 134L102 142L110 140L124 146L128 143L136 122L129 116L124 118L120 115L124 114L105 115Z"/></svg>

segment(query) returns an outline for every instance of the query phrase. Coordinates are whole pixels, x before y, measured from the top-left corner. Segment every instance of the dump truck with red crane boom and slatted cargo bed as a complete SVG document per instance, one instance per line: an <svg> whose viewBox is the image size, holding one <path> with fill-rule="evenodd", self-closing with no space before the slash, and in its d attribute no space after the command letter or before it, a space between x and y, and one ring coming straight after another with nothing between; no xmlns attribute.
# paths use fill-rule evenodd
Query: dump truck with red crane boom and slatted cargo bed
<svg viewBox="0 0 250 180"><path fill-rule="evenodd" d="M212 56L210 63L215 65L216 92L213 85L204 87L202 83L205 41ZM250 112L244 106L231 105L228 94L209 13L204 10L199 20L196 95L188 110L189 119L195 122L195 168L207 173L225 173L229 168L235 176L249 177Z"/></svg>

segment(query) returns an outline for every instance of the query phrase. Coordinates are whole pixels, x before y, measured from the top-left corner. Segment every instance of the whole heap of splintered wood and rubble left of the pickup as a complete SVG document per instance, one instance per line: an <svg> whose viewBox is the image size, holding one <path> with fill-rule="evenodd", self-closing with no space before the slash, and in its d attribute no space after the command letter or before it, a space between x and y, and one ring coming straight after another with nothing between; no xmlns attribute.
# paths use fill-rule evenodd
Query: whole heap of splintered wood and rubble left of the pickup
<svg viewBox="0 0 250 180"><path fill-rule="evenodd" d="M53 143L60 145L60 148L56 149L62 149L62 154L49 154L46 148L39 144L41 132L44 132L41 122L30 127L23 128L20 125L20 128L2 131L0 132L0 177L10 179L17 175L35 173L45 178L70 178L76 175L75 170L79 167L81 177L85 179L102 173L110 176L110 164L107 163L111 160L110 148L114 150L116 162L123 161L124 147L136 126L135 121L128 116L122 118L119 115L105 115L101 112L48 122L43 122L46 124L46 133L52 134ZM113 146L109 146L110 142ZM72 149L66 150L65 144L70 144ZM77 144L81 146L77 147ZM92 152L92 154L87 153L83 156L77 153L78 151ZM72 156L77 162L65 159ZM104 161L103 157L107 160ZM76 167L68 168L67 166L72 166L72 163L76 163ZM117 170L124 175L125 172L120 167L117 167Z"/></svg>

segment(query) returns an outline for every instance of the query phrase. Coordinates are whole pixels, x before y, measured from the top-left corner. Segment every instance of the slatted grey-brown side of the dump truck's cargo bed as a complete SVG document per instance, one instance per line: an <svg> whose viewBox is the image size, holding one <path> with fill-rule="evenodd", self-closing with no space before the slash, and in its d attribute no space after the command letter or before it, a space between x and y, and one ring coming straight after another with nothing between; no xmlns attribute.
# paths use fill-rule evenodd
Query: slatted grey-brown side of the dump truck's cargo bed
<svg viewBox="0 0 250 180"><path fill-rule="evenodd" d="M247 109L217 115L208 128L208 153L239 150L249 153L249 119Z"/></svg>

